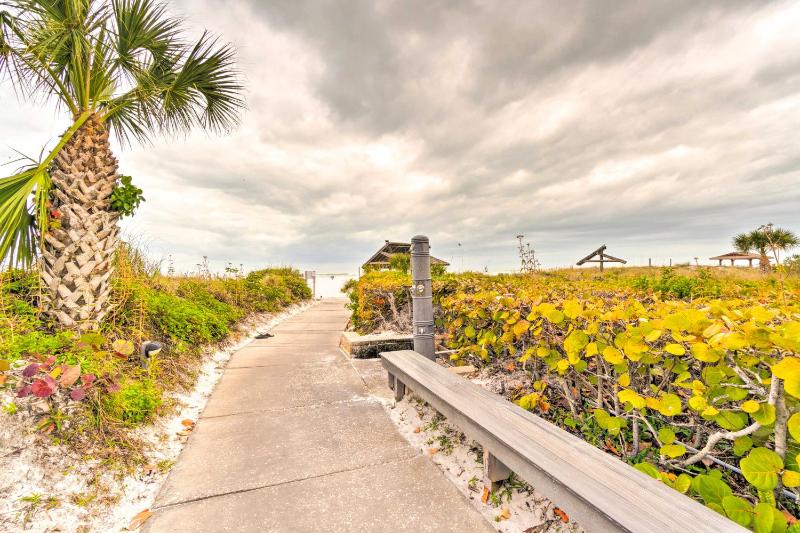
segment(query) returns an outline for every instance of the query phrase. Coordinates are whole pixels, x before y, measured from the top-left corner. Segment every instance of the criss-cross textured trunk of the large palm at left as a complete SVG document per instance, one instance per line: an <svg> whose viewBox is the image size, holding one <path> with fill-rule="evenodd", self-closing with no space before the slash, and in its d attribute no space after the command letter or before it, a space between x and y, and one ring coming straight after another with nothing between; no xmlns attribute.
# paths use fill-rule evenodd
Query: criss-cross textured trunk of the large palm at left
<svg viewBox="0 0 800 533"><path fill-rule="evenodd" d="M96 117L56 156L51 178L52 214L61 225L44 236L43 308L64 327L95 329L108 311L118 219L109 211L117 160Z"/></svg>

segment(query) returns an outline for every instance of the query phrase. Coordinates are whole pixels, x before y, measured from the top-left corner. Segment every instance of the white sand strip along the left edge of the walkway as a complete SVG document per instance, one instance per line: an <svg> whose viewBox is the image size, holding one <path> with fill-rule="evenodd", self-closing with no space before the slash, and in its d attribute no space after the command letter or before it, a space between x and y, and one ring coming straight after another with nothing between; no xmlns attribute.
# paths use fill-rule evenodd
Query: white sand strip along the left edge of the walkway
<svg viewBox="0 0 800 533"><path fill-rule="evenodd" d="M198 373L194 388L172 398L181 406L174 416L157 420L136 431L136 436L152 448L149 465L133 475L122 475L111 466L70 454L65 446L43 443L33 431L35 415L17 400L13 391L0 395L0 406L16 402L20 411L9 415L0 411L0 531L78 532L121 531L155 499L169 467L187 438L182 420L197 420L208 401L225 364L239 348L252 341L257 332L267 331L282 320L312 305L293 306L279 314L250 317L239 326L238 340L224 348L209 351ZM27 402L27 403L26 403ZM40 502L22 498L39 495ZM96 497L80 502L81 495ZM47 509L48 498L52 509ZM81 504L83 503L83 504Z"/></svg>

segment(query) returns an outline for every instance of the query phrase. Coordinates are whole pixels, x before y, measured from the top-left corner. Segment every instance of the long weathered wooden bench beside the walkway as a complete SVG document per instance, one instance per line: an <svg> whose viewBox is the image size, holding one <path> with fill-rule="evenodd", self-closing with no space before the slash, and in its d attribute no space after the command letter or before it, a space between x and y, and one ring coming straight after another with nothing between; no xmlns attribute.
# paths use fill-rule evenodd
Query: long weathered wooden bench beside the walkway
<svg viewBox="0 0 800 533"><path fill-rule="evenodd" d="M395 399L408 387L483 446L488 483L516 472L589 531L747 531L414 351L381 357Z"/></svg>

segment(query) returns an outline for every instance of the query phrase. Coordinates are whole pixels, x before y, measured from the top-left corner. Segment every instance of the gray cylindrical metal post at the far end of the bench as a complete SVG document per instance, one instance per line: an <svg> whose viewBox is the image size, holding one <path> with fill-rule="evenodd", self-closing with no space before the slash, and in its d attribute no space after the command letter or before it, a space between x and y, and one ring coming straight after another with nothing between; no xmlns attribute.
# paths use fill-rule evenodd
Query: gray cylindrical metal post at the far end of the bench
<svg viewBox="0 0 800 533"><path fill-rule="evenodd" d="M424 235L411 238L411 300L414 351L436 359L433 330L430 243Z"/></svg>

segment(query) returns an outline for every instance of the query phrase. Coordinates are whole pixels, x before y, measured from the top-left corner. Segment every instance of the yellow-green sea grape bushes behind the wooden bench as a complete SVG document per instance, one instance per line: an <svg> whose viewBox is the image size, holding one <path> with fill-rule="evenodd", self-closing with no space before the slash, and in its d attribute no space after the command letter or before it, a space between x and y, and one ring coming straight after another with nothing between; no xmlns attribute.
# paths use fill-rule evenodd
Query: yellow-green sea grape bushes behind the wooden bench
<svg viewBox="0 0 800 533"><path fill-rule="evenodd" d="M473 275L434 300L454 364L522 373L522 407L745 527L800 531L800 290L784 281L695 282L749 294L716 298Z"/></svg>

